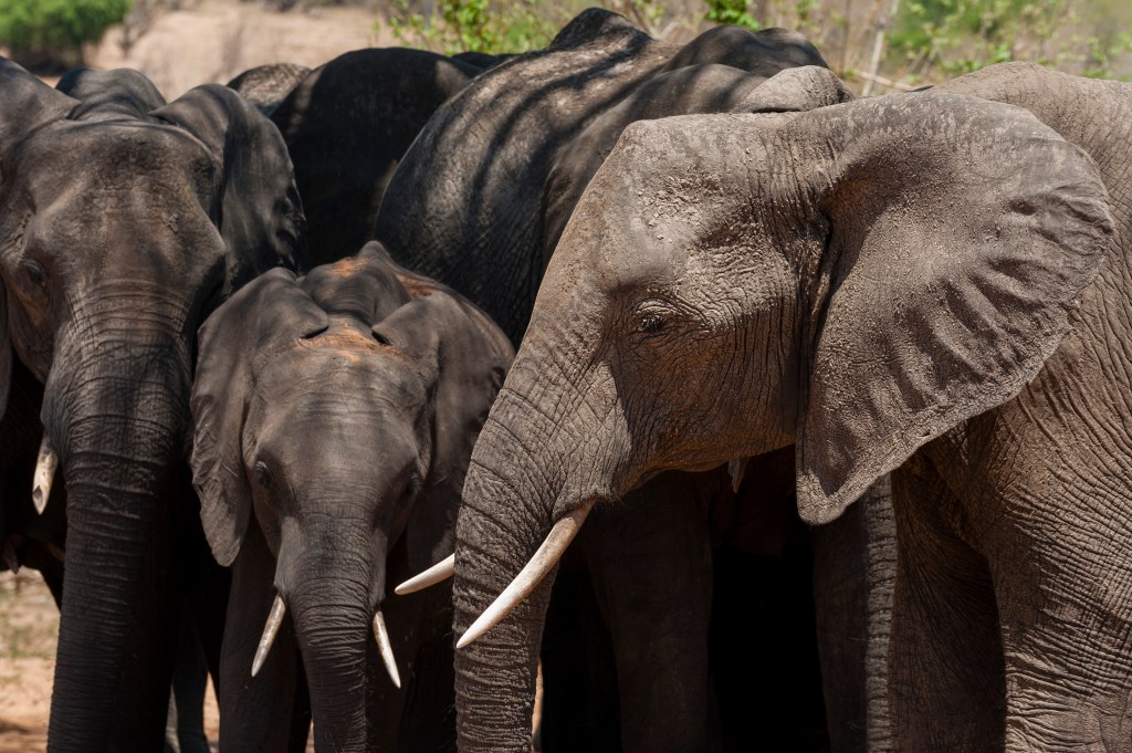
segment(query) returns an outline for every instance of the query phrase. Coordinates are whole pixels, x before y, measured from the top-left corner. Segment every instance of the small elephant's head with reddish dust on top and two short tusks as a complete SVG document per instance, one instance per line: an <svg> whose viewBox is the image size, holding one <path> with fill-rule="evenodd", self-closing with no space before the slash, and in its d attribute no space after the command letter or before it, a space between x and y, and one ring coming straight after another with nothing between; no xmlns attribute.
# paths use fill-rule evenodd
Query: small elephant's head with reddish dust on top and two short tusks
<svg viewBox="0 0 1132 753"><path fill-rule="evenodd" d="M388 571L452 551L472 444L512 357L482 311L377 243L302 279L269 272L200 330L205 532L231 565L252 515L263 531L278 594L265 635L291 614L320 750L366 747L371 630L394 685L414 664L398 669L391 645ZM447 615L429 618L446 630Z"/></svg>

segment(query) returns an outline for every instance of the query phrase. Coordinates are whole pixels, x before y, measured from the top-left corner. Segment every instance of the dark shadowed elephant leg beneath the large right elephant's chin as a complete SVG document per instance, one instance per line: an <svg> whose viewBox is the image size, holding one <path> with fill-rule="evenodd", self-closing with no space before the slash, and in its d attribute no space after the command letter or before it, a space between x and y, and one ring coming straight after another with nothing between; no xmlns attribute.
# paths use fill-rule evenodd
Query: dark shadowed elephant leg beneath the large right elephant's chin
<svg viewBox="0 0 1132 753"><path fill-rule="evenodd" d="M709 750L712 566L706 477L664 473L599 508L583 529L617 660L621 743Z"/></svg>

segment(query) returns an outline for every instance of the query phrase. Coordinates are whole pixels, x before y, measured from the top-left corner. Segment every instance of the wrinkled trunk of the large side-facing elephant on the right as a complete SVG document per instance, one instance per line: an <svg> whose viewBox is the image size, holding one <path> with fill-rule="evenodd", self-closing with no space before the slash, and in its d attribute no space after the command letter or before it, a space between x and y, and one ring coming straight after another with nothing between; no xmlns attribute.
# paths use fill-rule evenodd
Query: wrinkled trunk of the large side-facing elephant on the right
<svg viewBox="0 0 1132 753"><path fill-rule="evenodd" d="M532 448L547 447L552 436L554 427L541 413L513 392L499 394L477 444L492 452L473 452L456 524L457 636L522 570L550 530L551 508L561 491L557 464L534 456ZM547 447L548 455L552 452ZM456 651L462 752L531 750L535 667L552 580L544 579L503 623Z"/></svg>

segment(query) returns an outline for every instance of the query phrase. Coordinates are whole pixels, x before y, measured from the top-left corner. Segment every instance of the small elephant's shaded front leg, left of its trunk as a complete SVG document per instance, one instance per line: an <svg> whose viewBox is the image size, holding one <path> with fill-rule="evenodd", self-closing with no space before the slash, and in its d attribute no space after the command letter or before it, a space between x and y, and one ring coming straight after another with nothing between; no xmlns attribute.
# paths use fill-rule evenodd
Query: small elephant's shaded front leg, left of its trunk
<svg viewBox="0 0 1132 753"><path fill-rule="evenodd" d="M275 599L275 558L251 522L232 568L221 652L220 744L229 752L292 750L300 660L290 617L256 677L251 665Z"/></svg>

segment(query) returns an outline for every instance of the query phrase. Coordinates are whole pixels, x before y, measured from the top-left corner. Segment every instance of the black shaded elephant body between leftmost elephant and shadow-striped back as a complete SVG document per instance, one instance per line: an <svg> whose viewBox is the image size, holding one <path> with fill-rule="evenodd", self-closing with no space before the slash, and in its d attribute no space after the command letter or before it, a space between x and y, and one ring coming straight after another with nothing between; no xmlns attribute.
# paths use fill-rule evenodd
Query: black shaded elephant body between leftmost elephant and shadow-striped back
<svg viewBox="0 0 1132 753"><path fill-rule="evenodd" d="M357 50L310 71L274 109L315 264L370 240L381 197L417 134L479 72L424 50Z"/></svg>

